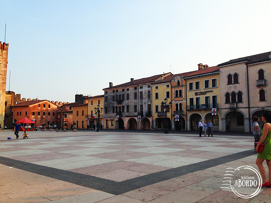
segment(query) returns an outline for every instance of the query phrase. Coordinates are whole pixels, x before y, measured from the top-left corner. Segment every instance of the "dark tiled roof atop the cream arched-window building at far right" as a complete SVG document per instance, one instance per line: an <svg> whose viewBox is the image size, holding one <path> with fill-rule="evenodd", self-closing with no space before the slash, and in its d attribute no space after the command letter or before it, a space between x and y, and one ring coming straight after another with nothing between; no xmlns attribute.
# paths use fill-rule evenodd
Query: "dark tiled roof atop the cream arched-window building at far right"
<svg viewBox="0 0 271 203"><path fill-rule="evenodd" d="M227 61L225 63L218 64L217 66L225 66L228 64L238 63L238 62L242 62L242 61L249 61L249 64L250 64L250 63L257 63L257 62L268 61L268 60L271 60L271 51L266 52L266 53L262 53L262 54L256 54L256 55L252 55L252 56L246 56L246 57L242 57L242 58L232 59L232 60Z"/></svg>

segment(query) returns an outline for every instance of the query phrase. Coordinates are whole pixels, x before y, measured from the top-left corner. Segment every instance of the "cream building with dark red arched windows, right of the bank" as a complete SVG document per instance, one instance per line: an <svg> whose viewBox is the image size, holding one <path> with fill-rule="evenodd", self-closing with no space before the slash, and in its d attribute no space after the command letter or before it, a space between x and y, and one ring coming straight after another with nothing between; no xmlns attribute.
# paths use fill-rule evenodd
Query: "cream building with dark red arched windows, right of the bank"
<svg viewBox="0 0 271 203"><path fill-rule="evenodd" d="M253 117L271 112L268 94L271 52L237 58L218 67L223 84L220 88L222 131L250 132Z"/></svg>

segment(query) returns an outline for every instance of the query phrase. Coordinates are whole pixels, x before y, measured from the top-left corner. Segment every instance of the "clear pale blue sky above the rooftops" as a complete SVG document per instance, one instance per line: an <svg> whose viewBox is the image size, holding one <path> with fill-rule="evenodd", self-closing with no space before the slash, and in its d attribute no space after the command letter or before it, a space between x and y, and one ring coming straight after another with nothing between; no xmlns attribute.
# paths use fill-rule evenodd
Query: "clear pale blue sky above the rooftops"
<svg viewBox="0 0 271 203"><path fill-rule="evenodd" d="M271 1L1 1L10 90L75 94L271 51ZM8 90L7 77L7 90ZM30 87L30 85L32 87Z"/></svg>

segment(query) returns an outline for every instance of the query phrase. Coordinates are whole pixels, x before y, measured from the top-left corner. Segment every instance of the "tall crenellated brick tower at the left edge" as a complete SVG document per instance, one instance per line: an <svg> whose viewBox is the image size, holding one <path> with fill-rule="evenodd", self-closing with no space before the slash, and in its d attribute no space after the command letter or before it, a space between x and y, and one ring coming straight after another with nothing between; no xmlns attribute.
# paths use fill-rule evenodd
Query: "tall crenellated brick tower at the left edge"
<svg viewBox="0 0 271 203"><path fill-rule="evenodd" d="M0 42L0 123L4 126L5 117L5 99L8 65L8 44Z"/></svg>

